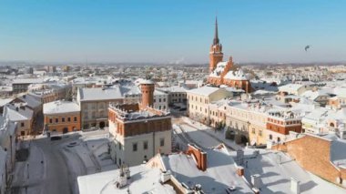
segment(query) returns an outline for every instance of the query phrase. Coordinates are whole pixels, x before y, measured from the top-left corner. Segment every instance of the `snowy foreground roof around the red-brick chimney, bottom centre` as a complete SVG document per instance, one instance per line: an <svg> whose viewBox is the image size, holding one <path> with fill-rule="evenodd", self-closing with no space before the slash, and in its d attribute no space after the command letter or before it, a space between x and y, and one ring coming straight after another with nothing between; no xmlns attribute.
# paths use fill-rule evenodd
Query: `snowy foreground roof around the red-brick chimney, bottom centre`
<svg viewBox="0 0 346 194"><path fill-rule="evenodd" d="M187 185L200 184L205 193L225 193L228 186L236 186L236 193L252 193L243 179L236 174L234 160L219 149L206 149L207 170L201 171L193 157L186 154L163 156L166 169L170 170L179 182Z"/></svg>

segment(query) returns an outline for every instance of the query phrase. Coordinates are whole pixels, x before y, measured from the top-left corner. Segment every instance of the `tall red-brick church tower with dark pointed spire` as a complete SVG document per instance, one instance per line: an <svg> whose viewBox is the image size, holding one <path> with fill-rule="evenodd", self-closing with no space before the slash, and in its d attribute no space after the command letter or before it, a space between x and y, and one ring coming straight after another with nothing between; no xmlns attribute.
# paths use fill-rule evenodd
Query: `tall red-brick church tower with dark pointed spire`
<svg viewBox="0 0 346 194"><path fill-rule="evenodd" d="M211 73L219 62L222 61L222 45L219 44L219 34L218 34L218 18L215 19L215 34L213 44L210 46L209 52L209 73Z"/></svg>

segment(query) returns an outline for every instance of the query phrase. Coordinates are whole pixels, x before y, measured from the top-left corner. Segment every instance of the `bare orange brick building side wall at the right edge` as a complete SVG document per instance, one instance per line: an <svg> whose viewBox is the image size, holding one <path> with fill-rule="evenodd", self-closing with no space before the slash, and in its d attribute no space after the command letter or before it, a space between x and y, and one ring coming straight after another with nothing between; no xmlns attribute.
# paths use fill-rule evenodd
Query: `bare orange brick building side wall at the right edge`
<svg viewBox="0 0 346 194"><path fill-rule="evenodd" d="M302 168L346 188L346 141L330 136L307 134L272 148L287 152Z"/></svg>

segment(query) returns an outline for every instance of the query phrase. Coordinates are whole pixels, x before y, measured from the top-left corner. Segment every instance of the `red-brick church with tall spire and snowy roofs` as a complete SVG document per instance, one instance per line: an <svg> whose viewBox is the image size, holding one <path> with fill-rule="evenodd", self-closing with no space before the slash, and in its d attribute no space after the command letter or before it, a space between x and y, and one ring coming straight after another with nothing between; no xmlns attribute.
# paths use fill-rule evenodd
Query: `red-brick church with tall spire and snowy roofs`
<svg viewBox="0 0 346 194"><path fill-rule="evenodd" d="M246 93L252 91L249 78L239 68L234 70L232 57L229 61L222 62L222 45L219 43L218 21L215 23L215 36L209 52L209 77L208 83L214 86L226 85L242 89Z"/></svg>

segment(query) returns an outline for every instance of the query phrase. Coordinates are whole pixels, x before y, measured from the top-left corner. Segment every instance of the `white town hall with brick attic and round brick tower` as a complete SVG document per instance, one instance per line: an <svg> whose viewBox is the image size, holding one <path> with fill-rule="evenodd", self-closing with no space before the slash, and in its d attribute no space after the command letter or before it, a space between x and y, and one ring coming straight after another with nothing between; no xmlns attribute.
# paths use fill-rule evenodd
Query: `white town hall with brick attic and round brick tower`
<svg viewBox="0 0 346 194"><path fill-rule="evenodd" d="M140 87L141 103L111 104L108 108L111 158L118 166L135 166L157 153L171 151L171 117L153 108L153 82L144 80Z"/></svg>

